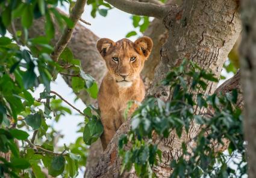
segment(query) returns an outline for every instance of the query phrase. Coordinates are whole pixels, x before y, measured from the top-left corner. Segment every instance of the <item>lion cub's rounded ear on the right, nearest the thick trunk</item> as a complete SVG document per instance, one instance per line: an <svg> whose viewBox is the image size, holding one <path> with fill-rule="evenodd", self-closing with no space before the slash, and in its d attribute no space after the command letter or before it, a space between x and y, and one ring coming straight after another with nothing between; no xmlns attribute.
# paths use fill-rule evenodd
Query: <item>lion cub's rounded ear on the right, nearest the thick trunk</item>
<svg viewBox="0 0 256 178"><path fill-rule="evenodd" d="M134 42L137 52L141 53L145 58L151 53L153 47L153 41L149 37L139 38Z"/></svg>

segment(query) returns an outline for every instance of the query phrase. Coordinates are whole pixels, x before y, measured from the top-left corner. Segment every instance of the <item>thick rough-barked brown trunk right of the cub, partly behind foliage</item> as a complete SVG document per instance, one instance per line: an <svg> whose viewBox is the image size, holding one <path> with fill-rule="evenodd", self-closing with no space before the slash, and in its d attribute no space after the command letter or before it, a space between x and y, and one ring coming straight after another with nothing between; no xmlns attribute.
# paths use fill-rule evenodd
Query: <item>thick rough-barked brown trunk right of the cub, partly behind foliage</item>
<svg viewBox="0 0 256 178"><path fill-rule="evenodd" d="M169 8L169 14L163 19L169 37L161 48L160 64L155 69L154 81L149 89L149 95L163 101L170 98L169 88L158 84L170 68L179 65L184 58L187 58L201 68L213 71L215 76L219 77L223 63L241 32L238 1L187 0L180 8ZM215 90L216 83L208 82L205 94L211 94ZM120 159L117 156L117 141L119 135L129 128L129 122L119 128L90 177L136 177L134 170L119 175ZM163 158L161 164L154 168L157 177L169 177L172 171L169 163L180 156L181 143L193 145L193 138L198 131L199 125L192 124L189 134L184 133L178 138L172 132L169 138L160 142L159 148L163 152Z"/></svg>

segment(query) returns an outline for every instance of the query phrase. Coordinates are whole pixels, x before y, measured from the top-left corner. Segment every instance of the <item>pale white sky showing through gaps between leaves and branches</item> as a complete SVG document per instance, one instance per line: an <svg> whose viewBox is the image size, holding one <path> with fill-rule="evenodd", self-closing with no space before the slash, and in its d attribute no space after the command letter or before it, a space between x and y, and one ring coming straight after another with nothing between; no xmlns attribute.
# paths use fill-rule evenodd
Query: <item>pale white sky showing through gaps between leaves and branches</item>
<svg viewBox="0 0 256 178"><path fill-rule="evenodd" d="M108 11L107 17L102 17L97 14L96 18L93 19L93 17L90 16L90 11L91 8L86 5L82 19L90 22L92 25L89 26L84 25L84 23L82 24L86 26L86 28L89 28L94 34L96 34L100 38L110 38L113 41L117 41L125 38L125 35L128 32L134 30L132 21L130 19L131 15L128 13L124 13L123 11L114 8L113 10ZM130 38L130 40L134 41L136 40L136 37L132 37ZM228 78L232 76L232 74L227 74L225 73L225 71L223 71L223 74ZM51 90L59 93L61 96L63 96L64 99L69 101L72 105L75 105L76 108L82 111L84 110L84 108L86 108L86 105L80 99L74 102L74 99L76 97L75 94L72 92L72 89L66 85L60 75L58 76L57 80L51 84ZM39 93L42 91L43 87L40 86L39 88L37 88L34 96L36 98L39 98ZM69 107L64 102L63 105ZM76 138L80 136L80 134L76 133L78 129L77 124L83 121L84 117L78 116L76 111L72 110L72 115L67 114L66 116L62 116L58 123L52 123L51 121L49 121L48 123L53 124L54 128L64 135L64 137L61 138L58 142L59 146L63 146L64 143L68 145L69 143L74 142ZM78 175L78 178L80 177L83 177L83 173L80 173Z"/></svg>

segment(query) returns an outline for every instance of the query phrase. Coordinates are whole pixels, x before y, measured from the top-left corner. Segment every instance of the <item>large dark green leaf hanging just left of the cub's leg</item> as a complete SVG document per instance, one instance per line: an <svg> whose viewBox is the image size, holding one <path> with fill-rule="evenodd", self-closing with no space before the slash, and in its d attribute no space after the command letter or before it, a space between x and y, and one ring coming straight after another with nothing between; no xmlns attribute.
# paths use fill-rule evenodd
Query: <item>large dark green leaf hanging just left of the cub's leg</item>
<svg viewBox="0 0 256 178"><path fill-rule="evenodd" d="M103 126L101 120L97 119L96 116L93 116L92 119L90 119L84 127L84 142L88 145L91 145L93 142L98 140L102 132Z"/></svg>

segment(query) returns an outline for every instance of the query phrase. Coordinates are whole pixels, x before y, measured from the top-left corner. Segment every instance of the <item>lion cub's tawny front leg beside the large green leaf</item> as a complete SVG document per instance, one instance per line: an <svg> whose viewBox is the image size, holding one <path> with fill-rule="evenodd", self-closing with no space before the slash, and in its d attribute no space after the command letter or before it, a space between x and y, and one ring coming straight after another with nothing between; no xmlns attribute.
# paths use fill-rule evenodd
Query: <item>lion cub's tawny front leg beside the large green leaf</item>
<svg viewBox="0 0 256 178"><path fill-rule="evenodd" d="M104 127L103 134L101 135L102 149L105 150L110 143L111 139L116 134L116 125L114 119L116 114L104 114L101 113L101 122Z"/></svg>

